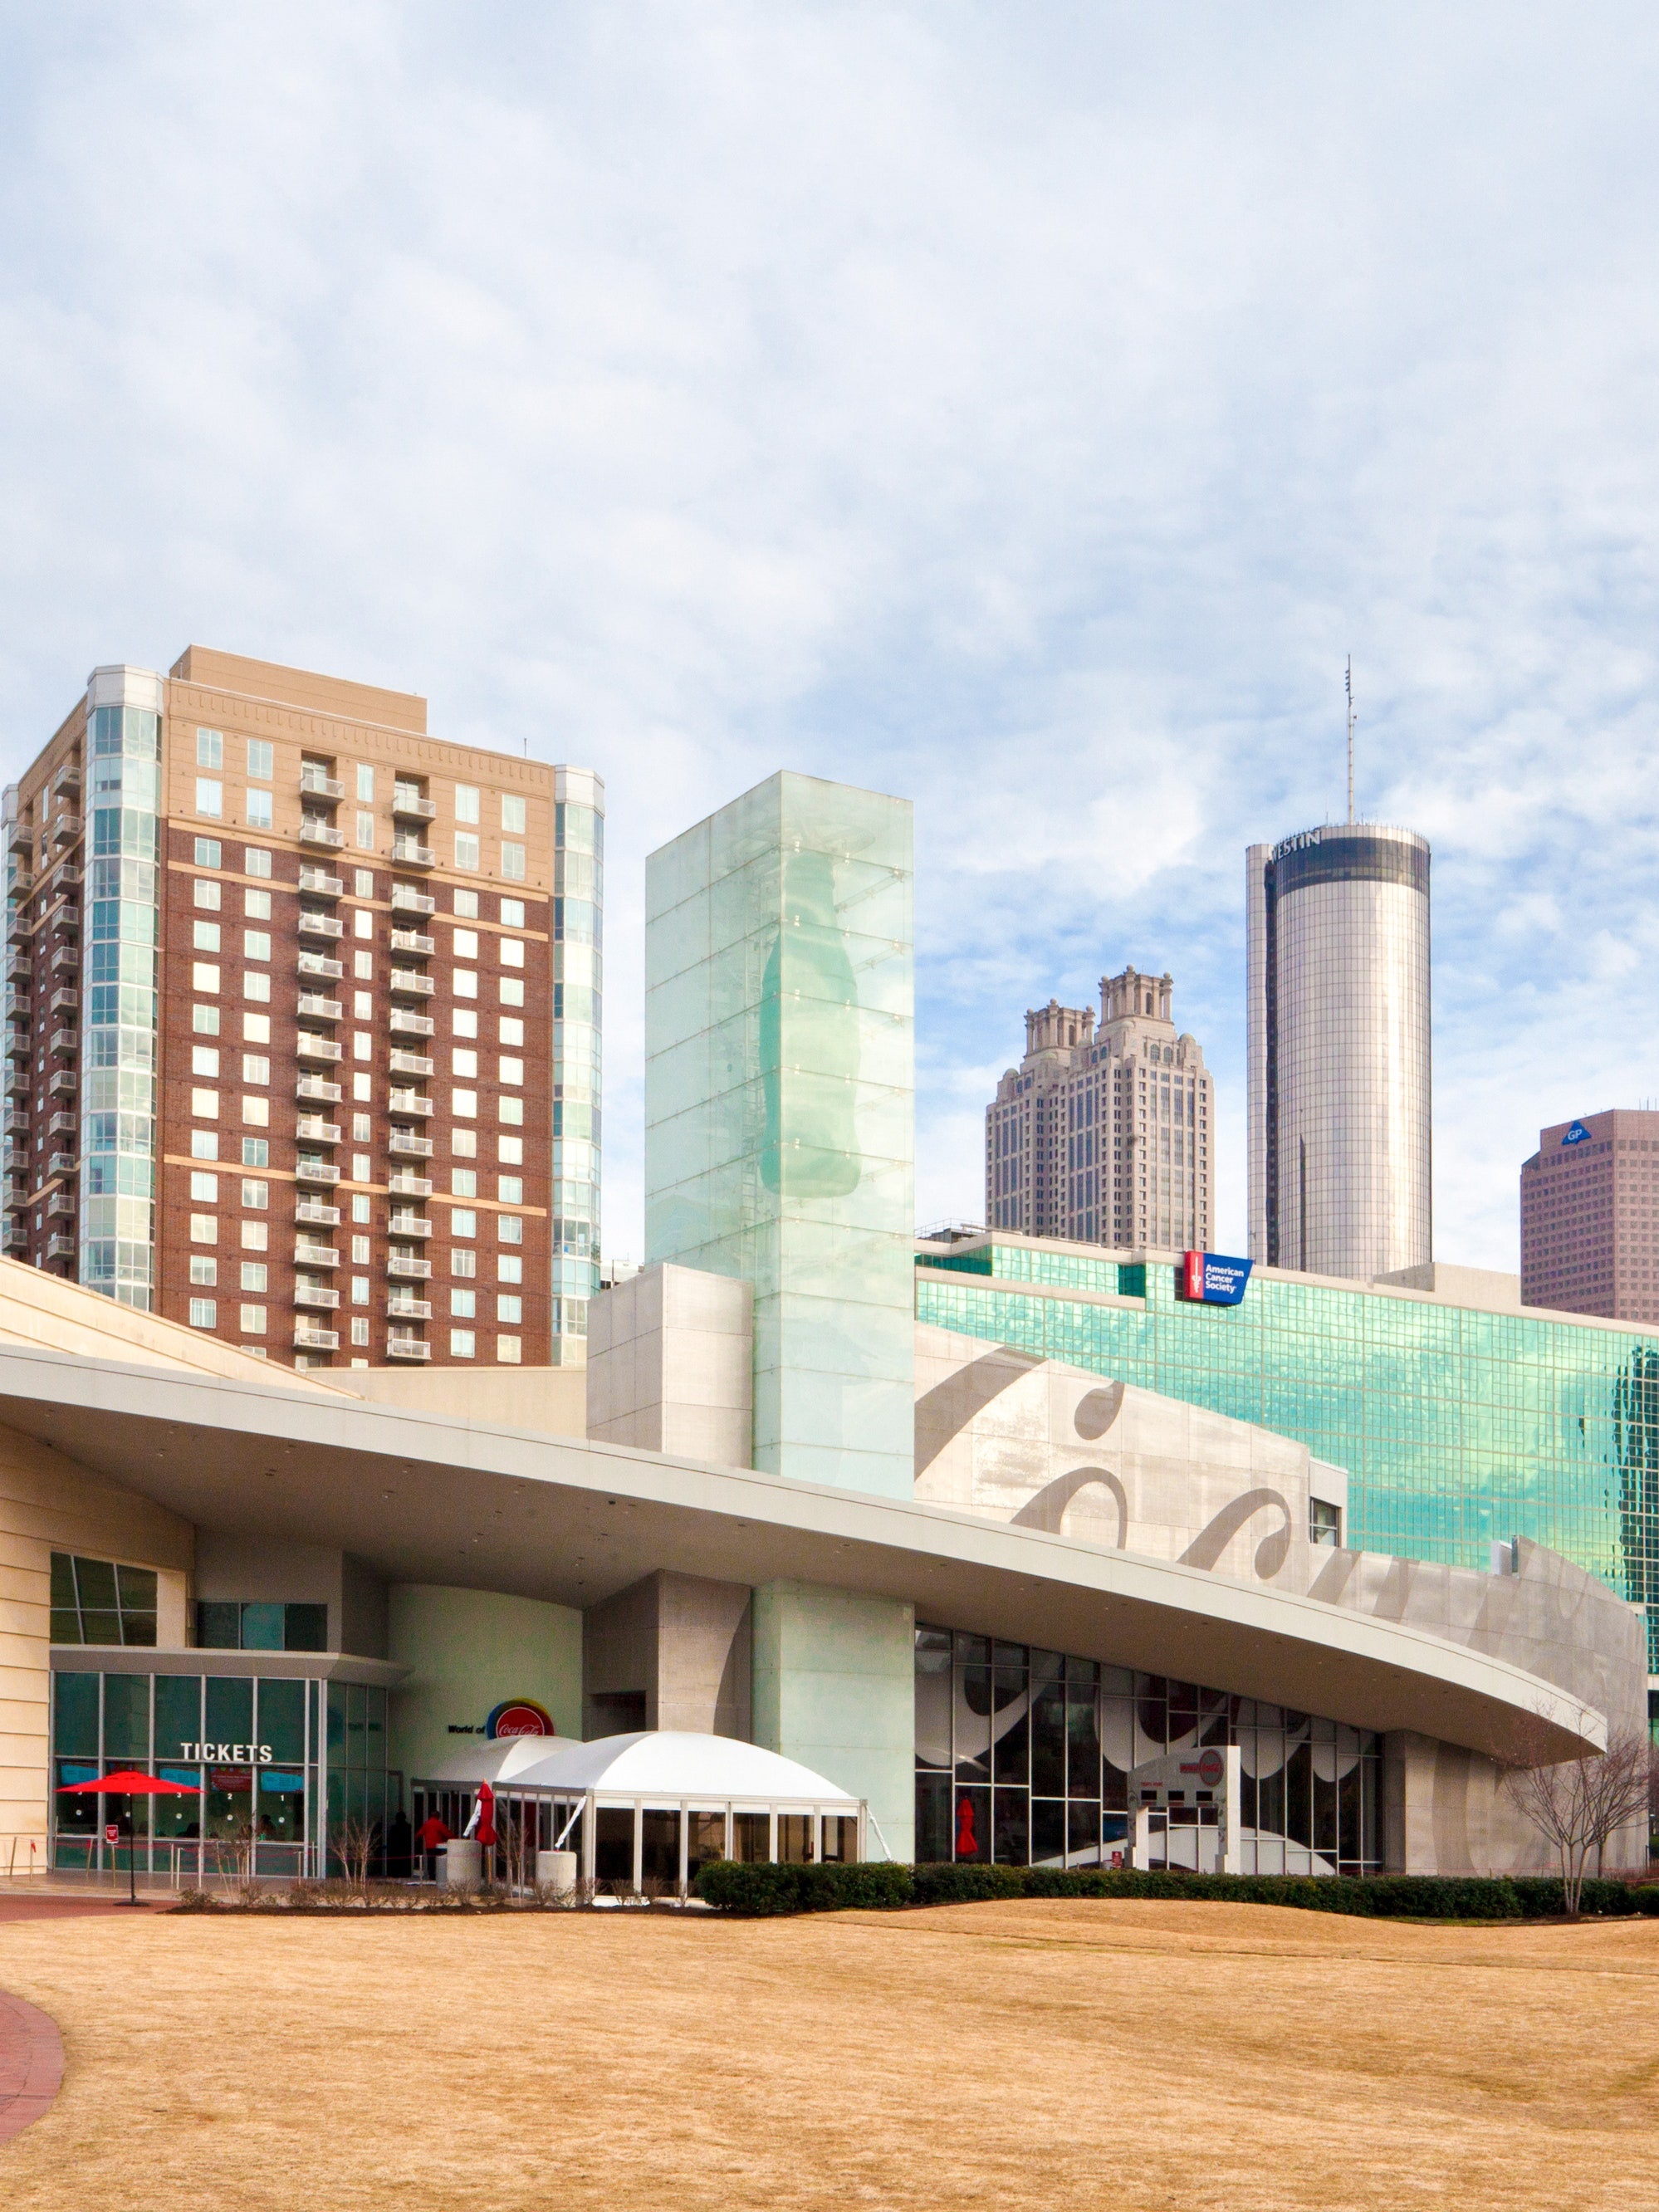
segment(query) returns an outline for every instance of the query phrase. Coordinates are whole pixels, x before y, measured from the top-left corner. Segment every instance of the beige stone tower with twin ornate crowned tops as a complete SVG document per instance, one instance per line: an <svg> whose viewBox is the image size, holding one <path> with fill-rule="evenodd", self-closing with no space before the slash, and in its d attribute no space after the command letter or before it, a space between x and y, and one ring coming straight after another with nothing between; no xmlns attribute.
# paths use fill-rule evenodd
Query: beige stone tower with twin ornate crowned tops
<svg viewBox="0 0 1659 2212"><path fill-rule="evenodd" d="M1093 1006L1026 1013L1026 1055L984 1113L984 1219L1026 1237L1208 1250L1214 1082L1175 1033L1170 975L1126 967Z"/></svg>

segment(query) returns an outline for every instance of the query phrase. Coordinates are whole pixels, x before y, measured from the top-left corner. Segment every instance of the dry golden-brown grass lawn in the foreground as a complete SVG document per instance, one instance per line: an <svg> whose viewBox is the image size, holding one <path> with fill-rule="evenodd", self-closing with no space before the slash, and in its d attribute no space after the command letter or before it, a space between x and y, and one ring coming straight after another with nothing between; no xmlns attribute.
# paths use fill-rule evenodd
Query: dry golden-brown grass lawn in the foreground
<svg viewBox="0 0 1659 2212"><path fill-rule="evenodd" d="M7 2212L1659 2201L1659 1922L1022 1902L0 1924Z"/></svg>

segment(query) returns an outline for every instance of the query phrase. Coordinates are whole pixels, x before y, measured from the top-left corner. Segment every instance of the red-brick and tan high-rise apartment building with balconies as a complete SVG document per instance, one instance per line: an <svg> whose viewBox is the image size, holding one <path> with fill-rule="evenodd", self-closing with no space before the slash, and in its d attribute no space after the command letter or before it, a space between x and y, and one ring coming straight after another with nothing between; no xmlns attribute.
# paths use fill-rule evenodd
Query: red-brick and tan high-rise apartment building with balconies
<svg viewBox="0 0 1659 2212"><path fill-rule="evenodd" d="M580 1363L604 787L190 646L7 790L4 1250L294 1365Z"/></svg>

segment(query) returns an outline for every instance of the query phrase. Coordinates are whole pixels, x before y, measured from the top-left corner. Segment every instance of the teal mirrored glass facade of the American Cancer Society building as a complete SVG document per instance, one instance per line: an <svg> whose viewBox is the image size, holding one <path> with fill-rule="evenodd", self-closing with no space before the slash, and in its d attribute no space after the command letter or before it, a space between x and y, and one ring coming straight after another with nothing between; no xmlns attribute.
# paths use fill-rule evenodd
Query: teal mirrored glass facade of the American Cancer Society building
<svg viewBox="0 0 1659 2212"><path fill-rule="evenodd" d="M1486 1568L1491 1542L1548 1544L1646 1606L1659 1672L1655 1336L1261 1270L1199 1305L1168 1261L998 1243L920 1256L916 1318L1296 1438L1347 1469L1356 1548Z"/></svg>

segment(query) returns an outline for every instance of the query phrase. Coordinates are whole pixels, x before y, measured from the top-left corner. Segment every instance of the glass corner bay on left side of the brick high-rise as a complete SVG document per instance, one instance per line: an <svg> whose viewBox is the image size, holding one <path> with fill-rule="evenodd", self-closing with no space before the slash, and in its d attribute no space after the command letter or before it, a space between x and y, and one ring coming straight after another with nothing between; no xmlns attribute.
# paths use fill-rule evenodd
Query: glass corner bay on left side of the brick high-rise
<svg viewBox="0 0 1659 2212"><path fill-rule="evenodd" d="M93 708L86 752L80 1281L148 1310L161 717Z"/></svg>

